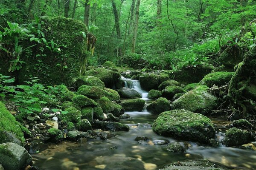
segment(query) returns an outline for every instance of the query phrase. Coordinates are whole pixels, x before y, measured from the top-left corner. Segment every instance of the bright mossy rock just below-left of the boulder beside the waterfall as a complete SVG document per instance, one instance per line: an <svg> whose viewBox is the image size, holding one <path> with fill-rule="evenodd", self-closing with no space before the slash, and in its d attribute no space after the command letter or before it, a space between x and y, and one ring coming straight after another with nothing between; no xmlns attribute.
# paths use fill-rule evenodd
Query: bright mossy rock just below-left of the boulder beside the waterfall
<svg viewBox="0 0 256 170"><path fill-rule="evenodd" d="M82 85L96 86L98 88L105 88L104 82L94 76L80 76L76 79L76 87L80 88Z"/></svg>

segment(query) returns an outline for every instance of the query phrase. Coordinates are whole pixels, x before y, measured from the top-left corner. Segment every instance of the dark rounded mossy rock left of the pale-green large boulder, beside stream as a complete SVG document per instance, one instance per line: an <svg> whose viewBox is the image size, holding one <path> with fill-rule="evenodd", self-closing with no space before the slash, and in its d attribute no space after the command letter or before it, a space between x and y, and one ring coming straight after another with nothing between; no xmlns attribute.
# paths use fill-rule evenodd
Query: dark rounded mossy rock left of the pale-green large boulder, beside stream
<svg viewBox="0 0 256 170"><path fill-rule="evenodd" d="M171 109L170 102L163 97L160 97L156 101L148 105L147 110L154 114L160 114L164 111L169 111Z"/></svg>

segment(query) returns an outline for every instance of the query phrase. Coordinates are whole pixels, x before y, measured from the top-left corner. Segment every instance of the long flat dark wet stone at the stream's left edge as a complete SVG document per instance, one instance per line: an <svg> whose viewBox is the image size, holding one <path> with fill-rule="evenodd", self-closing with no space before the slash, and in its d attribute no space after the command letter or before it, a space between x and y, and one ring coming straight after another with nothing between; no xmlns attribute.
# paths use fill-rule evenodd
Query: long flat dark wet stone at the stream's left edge
<svg viewBox="0 0 256 170"><path fill-rule="evenodd" d="M119 122L101 122L95 120L93 126L95 128L100 128L102 130L111 130L111 131L129 131L129 126L119 123Z"/></svg>

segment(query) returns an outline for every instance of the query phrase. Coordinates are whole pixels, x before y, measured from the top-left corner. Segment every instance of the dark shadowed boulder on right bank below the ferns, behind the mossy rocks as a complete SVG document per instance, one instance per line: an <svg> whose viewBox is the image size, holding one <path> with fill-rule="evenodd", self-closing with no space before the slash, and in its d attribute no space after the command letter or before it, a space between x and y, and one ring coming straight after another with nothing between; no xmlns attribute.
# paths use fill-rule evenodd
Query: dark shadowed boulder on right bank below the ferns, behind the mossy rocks
<svg viewBox="0 0 256 170"><path fill-rule="evenodd" d="M173 79L188 85L190 83L200 82L207 74L211 73L214 67L212 65L198 65L197 67L184 67L179 71L172 73Z"/></svg>

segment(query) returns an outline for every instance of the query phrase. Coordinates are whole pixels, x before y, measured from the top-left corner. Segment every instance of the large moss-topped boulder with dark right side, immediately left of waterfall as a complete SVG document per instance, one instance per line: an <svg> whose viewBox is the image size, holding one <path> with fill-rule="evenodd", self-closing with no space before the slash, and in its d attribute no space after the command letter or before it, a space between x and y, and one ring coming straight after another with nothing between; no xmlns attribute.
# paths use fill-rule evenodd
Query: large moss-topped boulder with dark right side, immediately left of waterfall
<svg viewBox="0 0 256 170"><path fill-rule="evenodd" d="M121 77L119 73L105 68L90 69L84 75L98 77L107 88L112 88Z"/></svg>

